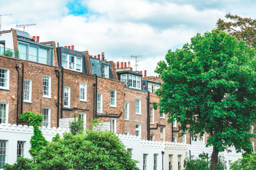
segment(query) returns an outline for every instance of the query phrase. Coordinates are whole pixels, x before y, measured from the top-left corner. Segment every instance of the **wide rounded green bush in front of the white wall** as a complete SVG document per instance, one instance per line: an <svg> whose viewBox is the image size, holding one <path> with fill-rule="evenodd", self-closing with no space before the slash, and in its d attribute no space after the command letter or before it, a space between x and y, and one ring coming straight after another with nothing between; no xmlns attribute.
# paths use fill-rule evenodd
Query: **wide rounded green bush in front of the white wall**
<svg viewBox="0 0 256 170"><path fill-rule="evenodd" d="M27 162L26 168L23 162ZM17 164L5 167L6 170L138 170L136 163L115 134L86 130L82 135L65 133L62 139L46 145L33 160L19 159Z"/></svg>

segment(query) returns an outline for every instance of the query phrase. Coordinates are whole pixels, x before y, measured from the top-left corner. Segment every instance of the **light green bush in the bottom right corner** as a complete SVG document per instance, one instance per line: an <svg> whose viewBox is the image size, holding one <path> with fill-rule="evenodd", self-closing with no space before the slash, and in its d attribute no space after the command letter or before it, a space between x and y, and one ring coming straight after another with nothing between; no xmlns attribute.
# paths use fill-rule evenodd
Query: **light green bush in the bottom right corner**
<svg viewBox="0 0 256 170"><path fill-rule="evenodd" d="M231 163L230 170L256 170L256 153L243 155L243 158Z"/></svg>

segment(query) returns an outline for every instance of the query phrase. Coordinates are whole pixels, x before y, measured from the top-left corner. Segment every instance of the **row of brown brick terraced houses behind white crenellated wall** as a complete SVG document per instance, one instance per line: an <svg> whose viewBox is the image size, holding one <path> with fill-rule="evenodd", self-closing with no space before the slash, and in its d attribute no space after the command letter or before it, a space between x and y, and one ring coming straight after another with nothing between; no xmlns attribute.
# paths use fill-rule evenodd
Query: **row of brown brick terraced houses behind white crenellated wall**
<svg viewBox="0 0 256 170"><path fill-rule="evenodd" d="M44 116L46 128L68 128L75 114L88 129L99 118L103 130L114 133L195 143L189 133L178 136L178 122L168 124L168 117L153 109L159 101L154 94L161 88L159 76L134 71L130 62L107 61L103 52L90 55L74 45L39 42L39 36L28 32L11 29L0 35L0 123L26 125L19 116L32 111ZM197 144L206 139L207 134Z"/></svg>

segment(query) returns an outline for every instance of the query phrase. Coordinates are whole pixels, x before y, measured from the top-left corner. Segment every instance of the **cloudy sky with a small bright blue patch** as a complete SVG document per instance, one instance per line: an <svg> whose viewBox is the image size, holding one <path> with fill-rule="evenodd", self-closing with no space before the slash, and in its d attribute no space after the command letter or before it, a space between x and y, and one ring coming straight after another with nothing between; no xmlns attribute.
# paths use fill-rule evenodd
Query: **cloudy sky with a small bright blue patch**
<svg viewBox="0 0 256 170"><path fill-rule="evenodd" d="M226 13L256 18L255 0L0 0L1 30L16 24L40 41L74 45L90 55L105 52L107 60L131 62L137 70L154 69L169 49L182 47L197 32L215 28ZM19 28L23 30L23 28ZM134 69L135 70L135 69Z"/></svg>

